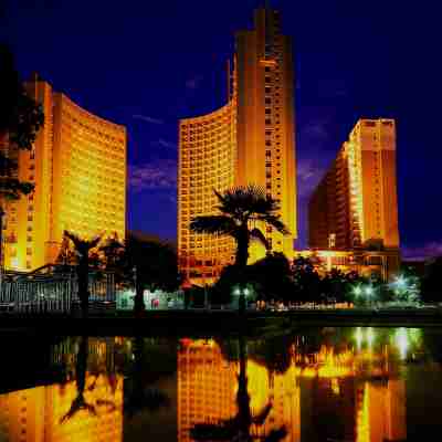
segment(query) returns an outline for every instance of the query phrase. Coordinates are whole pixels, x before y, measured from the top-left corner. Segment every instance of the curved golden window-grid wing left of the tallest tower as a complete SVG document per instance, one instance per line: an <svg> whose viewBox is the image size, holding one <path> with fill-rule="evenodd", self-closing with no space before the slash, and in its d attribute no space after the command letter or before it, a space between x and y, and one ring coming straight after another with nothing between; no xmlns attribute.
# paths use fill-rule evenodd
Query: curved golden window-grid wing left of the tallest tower
<svg viewBox="0 0 442 442"><path fill-rule="evenodd" d="M230 238L190 232L192 218L217 214L213 190L233 186L236 158L234 99L210 114L180 120L178 246L188 277L213 282L230 262ZM197 273L199 269L199 273Z"/></svg>

